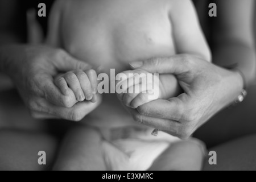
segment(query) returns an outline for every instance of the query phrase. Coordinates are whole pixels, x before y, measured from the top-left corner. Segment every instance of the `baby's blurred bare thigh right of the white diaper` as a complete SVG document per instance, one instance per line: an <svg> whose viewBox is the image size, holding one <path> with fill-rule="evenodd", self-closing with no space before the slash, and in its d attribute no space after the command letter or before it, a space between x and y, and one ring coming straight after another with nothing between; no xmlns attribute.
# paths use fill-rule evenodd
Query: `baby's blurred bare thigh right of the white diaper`
<svg viewBox="0 0 256 182"><path fill-rule="evenodd" d="M205 156L204 143L197 139L172 143L152 164L150 170L199 171Z"/></svg>

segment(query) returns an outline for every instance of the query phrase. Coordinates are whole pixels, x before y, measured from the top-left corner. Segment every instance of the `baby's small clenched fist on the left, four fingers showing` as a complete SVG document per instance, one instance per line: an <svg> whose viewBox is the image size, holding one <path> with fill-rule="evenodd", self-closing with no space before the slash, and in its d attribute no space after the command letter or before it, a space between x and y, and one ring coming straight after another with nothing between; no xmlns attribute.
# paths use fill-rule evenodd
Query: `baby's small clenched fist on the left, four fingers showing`
<svg viewBox="0 0 256 182"><path fill-rule="evenodd" d="M57 76L54 82L65 96L73 92L79 102L97 101L97 73L93 69L67 72Z"/></svg>

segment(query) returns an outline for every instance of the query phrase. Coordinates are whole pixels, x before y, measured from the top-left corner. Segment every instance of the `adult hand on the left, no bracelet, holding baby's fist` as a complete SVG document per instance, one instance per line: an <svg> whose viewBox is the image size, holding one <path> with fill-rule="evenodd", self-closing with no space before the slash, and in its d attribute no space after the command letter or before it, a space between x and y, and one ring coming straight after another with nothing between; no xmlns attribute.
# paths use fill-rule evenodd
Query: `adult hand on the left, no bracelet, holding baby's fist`
<svg viewBox="0 0 256 182"><path fill-rule="evenodd" d="M3 69L9 75L35 118L63 118L80 121L101 102L77 102L73 92L67 96L53 84L60 72L88 70L90 65L76 60L62 49L46 46L8 46L1 49ZM5 56L3 56L5 55Z"/></svg>

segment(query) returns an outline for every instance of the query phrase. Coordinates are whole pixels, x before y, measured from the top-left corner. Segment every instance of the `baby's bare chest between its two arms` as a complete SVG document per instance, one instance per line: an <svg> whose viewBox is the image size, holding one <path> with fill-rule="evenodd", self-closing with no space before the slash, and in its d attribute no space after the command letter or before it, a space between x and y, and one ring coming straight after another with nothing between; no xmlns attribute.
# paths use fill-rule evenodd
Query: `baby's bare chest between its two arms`
<svg viewBox="0 0 256 182"><path fill-rule="evenodd" d="M63 15L61 31L64 48L79 59L121 68L130 61L175 53L168 13L158 3L75 2Z"/></svg>

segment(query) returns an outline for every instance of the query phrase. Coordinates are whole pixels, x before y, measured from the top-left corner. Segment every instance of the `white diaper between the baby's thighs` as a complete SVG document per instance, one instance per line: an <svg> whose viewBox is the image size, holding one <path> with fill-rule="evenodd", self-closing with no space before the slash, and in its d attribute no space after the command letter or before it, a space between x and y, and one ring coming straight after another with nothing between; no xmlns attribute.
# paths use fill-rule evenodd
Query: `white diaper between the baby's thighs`
<svg viewBox="0 0 256 182"><path fill-rule="evenodd" d="M159 131L151 135L153 129L129 132L125 138L103 142L106 167L113 171L146 171L171 143L180 139Z"/></svg>

